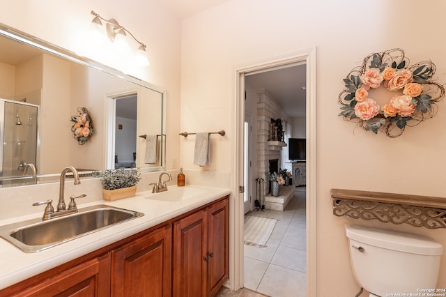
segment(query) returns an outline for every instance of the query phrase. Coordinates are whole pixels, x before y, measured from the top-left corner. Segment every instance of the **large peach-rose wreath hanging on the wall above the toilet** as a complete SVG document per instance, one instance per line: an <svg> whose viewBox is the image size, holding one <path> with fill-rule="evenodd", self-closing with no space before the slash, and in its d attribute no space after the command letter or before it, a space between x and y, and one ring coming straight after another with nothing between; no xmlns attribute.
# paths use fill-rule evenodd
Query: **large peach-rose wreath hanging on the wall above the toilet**
<svg viewBox="0 0 446 297"><path fill-rule="evenodd" d="M445 96L444 87L431 81L436 66L432 61L408 66L408 61L398 48L365 57L362 66L353 68L344 79L339 116L375 134L381 130L389 137L400 136L406 125L414 126L435 116L436 102ZM383 107L369 98L369 90L381 84L396 93Z"/></svg>

